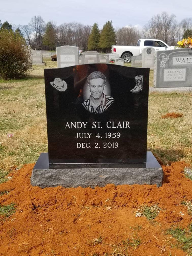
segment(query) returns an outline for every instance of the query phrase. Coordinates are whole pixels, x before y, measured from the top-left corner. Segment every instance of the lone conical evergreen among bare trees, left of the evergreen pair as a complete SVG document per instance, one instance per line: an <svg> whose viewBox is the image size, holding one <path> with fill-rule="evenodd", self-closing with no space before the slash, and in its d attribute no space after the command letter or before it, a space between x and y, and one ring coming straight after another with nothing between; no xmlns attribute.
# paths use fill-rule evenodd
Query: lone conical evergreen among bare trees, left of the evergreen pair
<svg viewBox="0 0 192 256"><path fill-rule="evenodd" d="M45 34L43 36L43 45L46 46L47 50L55 50L56 48L56 31L52 22L48 21Z"/></svg>

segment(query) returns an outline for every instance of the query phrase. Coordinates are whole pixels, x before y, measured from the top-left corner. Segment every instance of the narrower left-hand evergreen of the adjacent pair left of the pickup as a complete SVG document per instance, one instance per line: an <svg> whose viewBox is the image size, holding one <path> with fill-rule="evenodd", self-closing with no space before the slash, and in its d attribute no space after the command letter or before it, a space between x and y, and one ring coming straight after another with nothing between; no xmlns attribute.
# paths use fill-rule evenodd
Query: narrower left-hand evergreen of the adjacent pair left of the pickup
<svg viewBox="0 0 192 256"><path fill-rule="evenodd" d="M98 24L94 23L88 39L88 51L98 51L99 39L100 39L100 34L99 34Z"/></svg>

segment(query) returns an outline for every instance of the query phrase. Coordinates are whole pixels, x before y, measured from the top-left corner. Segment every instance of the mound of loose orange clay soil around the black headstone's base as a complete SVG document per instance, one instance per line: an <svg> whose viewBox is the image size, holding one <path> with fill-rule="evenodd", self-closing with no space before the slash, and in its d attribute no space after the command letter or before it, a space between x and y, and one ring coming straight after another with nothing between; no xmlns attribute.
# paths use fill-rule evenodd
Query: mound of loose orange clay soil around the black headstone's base
<svg viewBox="0 0 192 256"><path fill-rule="evenodd" d="M185 256L167 234L187 229L192 215L182 201L192 199L192 181L184 162L164 166L164 184L92 188L32 187L34 164L25 165L0 184L0 205L16 203L16 212L0 219L0 255ZM152 221L135 217L142 205L158 204Z"/></svg>

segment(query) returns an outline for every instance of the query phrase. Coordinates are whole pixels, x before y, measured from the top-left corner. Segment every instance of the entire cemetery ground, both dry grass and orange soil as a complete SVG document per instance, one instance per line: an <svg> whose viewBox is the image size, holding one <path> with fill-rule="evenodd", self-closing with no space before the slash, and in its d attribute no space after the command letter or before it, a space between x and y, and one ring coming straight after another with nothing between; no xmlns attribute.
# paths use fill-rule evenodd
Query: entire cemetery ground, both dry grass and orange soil
<svg viewBox="0 0 192 256"><path fill-rule="evenodd" d="M162 187L32 187L48 151L43 69L57 66L44 61L25 79L0 80L0 255L192 255L192 95L149 95L148 150Z"/></svg>

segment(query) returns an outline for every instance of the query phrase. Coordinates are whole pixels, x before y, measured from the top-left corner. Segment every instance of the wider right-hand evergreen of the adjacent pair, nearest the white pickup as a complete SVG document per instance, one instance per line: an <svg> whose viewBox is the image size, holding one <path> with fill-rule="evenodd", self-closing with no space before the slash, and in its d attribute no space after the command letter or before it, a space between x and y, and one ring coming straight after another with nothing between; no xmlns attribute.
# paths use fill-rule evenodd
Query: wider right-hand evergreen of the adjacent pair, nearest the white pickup
<svg viewBox="0 0 192 256"><path fill-rule="evenodd" d="M112 26L112 21L108 21L101 31L99 48L104 52L110 52L113 44L116 44L116 34L114 27Z"/></svg>

